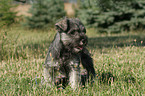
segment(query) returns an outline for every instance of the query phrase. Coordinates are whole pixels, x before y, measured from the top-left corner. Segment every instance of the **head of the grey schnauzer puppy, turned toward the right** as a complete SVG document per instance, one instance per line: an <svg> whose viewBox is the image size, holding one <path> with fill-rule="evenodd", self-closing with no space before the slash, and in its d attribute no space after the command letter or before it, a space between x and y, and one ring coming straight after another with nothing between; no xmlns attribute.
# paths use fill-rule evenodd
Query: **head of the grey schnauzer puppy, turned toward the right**
<svg viewBox="0 0 145 96"><path fill-rule="evenodd" d="M78 53L87 45L86 29L79 19L64 18L55 26L66 49Z"/></svg>

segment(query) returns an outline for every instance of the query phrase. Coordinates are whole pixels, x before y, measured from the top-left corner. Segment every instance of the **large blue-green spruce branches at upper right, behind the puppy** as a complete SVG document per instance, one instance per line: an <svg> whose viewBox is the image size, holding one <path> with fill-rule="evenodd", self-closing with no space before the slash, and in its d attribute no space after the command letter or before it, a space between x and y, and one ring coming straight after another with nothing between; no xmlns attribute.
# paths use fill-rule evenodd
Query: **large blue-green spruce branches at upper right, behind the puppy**
<svg viewBox="0 0 145 96"><path fill-rule="evenodd" d="M85 25L95 27L99 32L118 33L145 28L145 1L112 2L107 8L98 7L95 1L89 7L82 4L77 16ZM114 5L113 5L114 4Z"/></svg>

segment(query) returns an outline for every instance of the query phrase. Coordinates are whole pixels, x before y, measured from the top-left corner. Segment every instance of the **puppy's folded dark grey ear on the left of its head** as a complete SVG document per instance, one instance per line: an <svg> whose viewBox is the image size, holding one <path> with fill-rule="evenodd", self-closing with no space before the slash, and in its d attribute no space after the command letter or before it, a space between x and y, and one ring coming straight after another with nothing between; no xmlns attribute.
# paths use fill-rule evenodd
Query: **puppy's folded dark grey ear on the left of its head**
<svg viewBox="0 0 145 96"><path fill-rule="evenodd" d="M55 26L58 32L65 32L68 29L68 24L69 24L69 19L64 18L60 22L56 23Z"/></svg>

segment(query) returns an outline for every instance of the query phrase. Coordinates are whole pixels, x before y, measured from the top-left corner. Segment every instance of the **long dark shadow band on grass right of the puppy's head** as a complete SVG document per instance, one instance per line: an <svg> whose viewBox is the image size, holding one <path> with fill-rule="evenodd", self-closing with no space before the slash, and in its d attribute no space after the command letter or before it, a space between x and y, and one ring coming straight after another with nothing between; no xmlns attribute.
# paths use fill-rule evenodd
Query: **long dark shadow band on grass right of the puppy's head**
<svg viewBox="0 0 145 96"><path fill-rule="evenodd" d="M89 38L88 47L94 48L111 48L124 46L145 46L145 35L128 35L128 36L105 36Z"/></svg>

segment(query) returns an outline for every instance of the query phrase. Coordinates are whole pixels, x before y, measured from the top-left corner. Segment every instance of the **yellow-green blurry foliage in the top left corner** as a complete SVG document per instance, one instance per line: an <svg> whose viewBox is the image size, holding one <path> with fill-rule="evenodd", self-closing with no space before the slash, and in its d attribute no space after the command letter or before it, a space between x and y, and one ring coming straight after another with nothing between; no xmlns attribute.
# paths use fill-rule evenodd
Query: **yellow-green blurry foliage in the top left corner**
<svg viewBox="0 0 145 96"><path fill-rule="evenodd" d="M0 0L0 27L11 25L16 21L17 12L12 10L14 7L12 0Z"/></svg>

